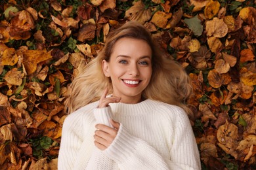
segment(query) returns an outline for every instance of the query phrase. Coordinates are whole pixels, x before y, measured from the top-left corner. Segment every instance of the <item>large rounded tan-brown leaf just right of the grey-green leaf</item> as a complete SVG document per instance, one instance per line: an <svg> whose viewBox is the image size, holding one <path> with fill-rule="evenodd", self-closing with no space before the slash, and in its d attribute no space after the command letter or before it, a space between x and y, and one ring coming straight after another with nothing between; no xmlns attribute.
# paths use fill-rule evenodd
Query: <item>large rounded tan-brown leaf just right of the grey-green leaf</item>
<svg viewBox="0 0 256 170"><path fill-rule="evenodd" d="M228 33L228 26L224 23L223 19L213 18L205 23L205 31L208 36L222 38Z"/></svg>

